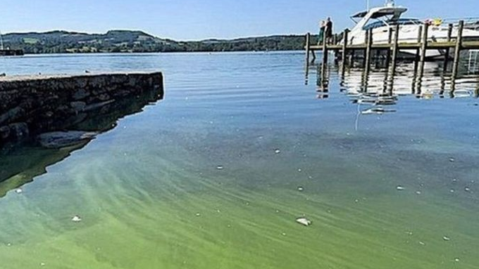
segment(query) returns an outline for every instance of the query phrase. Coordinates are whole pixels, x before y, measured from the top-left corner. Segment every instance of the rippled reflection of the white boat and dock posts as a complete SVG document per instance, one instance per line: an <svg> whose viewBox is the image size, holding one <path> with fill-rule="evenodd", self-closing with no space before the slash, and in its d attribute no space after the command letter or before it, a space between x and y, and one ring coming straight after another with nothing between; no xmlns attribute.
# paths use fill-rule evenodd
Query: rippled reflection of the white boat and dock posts
<svg viewBox="0 0 479 269"><path fill-rule="evenodd" d="M352 103L370 104L374 107L368 107L367 112L384 113L392 110L385 110L381 106L395 105L401 96L419 99L478 98L479 53L475 55L475 52L471 52L470 55L461 64L461 76L456 79L452 79L452 74L447 72L452 68L444 66L442 62L425 63L423 72L414 61L397 63L395 70L392 70L387 60L375 61L370 72L358 63L344 67L341 63L330 63L325 67L311 65L309 68L316 68L318 98L330 96L331 77L337 76L340 77L340 91Z"/></svg>

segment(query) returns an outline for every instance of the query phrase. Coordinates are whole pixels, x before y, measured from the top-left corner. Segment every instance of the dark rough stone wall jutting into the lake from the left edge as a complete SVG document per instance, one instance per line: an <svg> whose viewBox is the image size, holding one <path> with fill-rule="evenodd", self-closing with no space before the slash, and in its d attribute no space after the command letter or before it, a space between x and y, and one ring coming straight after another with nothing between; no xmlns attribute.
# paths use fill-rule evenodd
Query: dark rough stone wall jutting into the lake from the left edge
<svg viewBox="0 0 479 269"><path fill-rule="evenodd" d="M155 91L163 97L161 73L0 79L0 145L75 124L129 96Z"/></svg>

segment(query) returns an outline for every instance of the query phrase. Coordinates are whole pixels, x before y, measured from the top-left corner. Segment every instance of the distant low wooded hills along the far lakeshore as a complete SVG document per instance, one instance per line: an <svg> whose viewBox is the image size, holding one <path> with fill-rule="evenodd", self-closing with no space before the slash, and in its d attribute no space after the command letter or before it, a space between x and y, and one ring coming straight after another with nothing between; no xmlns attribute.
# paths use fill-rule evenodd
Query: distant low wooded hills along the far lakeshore
<svg viewBox="0 0 479 269"><path fill-rule="evenodd" d="M141 31L112 30L106 34L52 31L4 34L4 44L25 53L113 53L187 51L291 51L304 47L304 36L277 35L242 39L174 41Z"/></svg>

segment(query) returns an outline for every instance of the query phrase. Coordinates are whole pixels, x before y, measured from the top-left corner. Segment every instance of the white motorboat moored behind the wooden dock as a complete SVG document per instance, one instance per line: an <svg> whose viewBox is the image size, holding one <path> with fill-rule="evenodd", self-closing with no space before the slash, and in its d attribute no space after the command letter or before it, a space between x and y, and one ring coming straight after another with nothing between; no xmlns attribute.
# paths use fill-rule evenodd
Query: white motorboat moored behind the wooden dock
<svg viewBox="0 0 479 269"><path fill-rule="evenodd" d="M417 43L418 34L424 21L414 18L402 18L408 9L402 6L396 6L394 1L386 1L385 6L371 8L368 11L362 11L352 16L352 20L356 25L349 33L349 44L364 44L366 40L366 32L370 29L373 31L374 44L387 44L389 41L390 29L394 29L399 25L399 42L400 43ZM432 23L428 30L429 41L446 41L448 26L442 25L440 20ZM458 28L452 29L452 37L456 37ZM393 35L394 36L394 35ZM394 37L393 37L394 38ZM479 31L475 29L464 29L464 40L479 39ZM416 51L401 51L402 53L415 54ZM428 58L444 55L442 50L430 50L426 55Z"/></svg>

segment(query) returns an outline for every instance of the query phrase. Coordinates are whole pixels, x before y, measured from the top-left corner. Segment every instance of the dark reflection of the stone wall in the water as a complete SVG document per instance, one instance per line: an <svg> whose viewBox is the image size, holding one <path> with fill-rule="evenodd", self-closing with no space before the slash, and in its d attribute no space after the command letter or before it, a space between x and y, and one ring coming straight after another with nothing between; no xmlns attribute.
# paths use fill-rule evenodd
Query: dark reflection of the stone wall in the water
<svg viewBox="0 0 479 269"><path fill-rule="evenodd" d="M132 96L116 103L104 106L101 110L77 114L74 120L58 124L58 131L82 130L104 133L116 127L118 119L141 112L143 108L163 99L160 91L145 91L139 96ZM35 142L20 145L6 145L0 149L0 197L10 190L17 189L33 181L36 176L46 173L46 167L61 162L75 150L80 150L89 143L83 141L77 145L60 149L46 149Z"/></svg>

